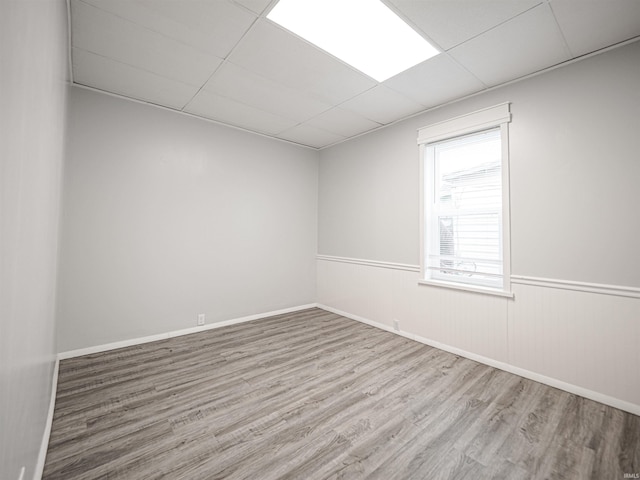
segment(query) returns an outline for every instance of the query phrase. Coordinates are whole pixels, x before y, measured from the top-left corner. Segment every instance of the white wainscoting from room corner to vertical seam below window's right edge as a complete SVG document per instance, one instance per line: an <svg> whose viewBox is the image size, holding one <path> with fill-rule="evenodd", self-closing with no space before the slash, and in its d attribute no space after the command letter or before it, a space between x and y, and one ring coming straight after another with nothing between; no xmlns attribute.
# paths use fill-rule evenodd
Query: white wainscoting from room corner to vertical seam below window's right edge
<svg viewBox="0 0 640 480"><path fill-rule="evenodd" d="M418 285L417 272L318 261L318 303L401 333L507 361L508 299Z"/></svg>

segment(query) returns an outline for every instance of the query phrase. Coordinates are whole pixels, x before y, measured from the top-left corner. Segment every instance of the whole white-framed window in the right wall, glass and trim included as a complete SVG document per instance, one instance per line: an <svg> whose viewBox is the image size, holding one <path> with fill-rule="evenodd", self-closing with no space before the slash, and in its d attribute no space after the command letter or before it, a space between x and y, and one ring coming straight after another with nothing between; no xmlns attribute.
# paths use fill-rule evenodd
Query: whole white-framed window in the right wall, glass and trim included
<svg viewBox="0 0 640 480"><path fill-rule="evenodd" d="M510 295L509 104L420 129L421 282Z"/></svg>

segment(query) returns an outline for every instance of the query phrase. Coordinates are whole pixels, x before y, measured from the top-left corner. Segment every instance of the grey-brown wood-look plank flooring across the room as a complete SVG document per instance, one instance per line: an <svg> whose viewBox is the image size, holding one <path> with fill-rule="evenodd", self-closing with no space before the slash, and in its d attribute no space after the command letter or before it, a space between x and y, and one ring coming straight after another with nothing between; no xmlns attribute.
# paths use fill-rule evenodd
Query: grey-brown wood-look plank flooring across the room
<svg viewBox="0 0 640 480"><path fill-rule="evenodd" d="M320 309L60 363L44 479L597 479L640 417Z"/></svg>

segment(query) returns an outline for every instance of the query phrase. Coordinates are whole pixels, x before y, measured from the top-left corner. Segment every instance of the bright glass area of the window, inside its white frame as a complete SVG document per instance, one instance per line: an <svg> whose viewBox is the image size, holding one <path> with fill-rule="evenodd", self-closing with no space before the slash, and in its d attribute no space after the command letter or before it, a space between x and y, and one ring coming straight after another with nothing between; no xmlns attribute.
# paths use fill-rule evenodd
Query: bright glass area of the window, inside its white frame
<svg viewBox="0 0 640 480"><path fill-rule="evenodd" d="M502 285L500 129L430 145L431 278Z"/></svg>

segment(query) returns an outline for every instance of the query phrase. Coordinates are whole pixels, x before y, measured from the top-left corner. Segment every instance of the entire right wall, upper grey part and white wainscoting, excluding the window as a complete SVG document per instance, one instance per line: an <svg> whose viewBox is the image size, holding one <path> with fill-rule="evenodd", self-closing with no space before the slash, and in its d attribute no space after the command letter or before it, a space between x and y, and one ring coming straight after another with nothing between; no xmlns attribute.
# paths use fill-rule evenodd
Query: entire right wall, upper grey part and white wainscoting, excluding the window
<svg viewBox="0 0 640 480"><path fill-rule="evenodd" d="M636 42L323 150L319 302L640 412L639 84ZM515 300L418 286L417 129L507 101Z"/></svg>

